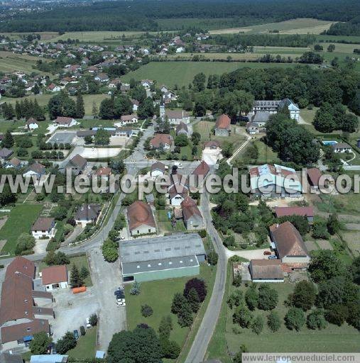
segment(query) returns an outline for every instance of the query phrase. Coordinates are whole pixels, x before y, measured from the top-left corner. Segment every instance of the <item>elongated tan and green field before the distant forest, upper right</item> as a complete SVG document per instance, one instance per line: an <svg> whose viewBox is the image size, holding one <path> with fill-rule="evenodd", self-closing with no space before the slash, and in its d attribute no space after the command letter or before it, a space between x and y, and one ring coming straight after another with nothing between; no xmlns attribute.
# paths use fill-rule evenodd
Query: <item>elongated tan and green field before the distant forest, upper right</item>
<svg viewBox="0 0 360 363"><path fill-rule="evenodd" d="M279 30L282 34L320 34L329 29L331 22L312 18L297 18L279 23L261 24L258 26L246 26L242 28L227 28L210 30L211 34L234 34L234 33L268 33L269 30Z"/></svg>

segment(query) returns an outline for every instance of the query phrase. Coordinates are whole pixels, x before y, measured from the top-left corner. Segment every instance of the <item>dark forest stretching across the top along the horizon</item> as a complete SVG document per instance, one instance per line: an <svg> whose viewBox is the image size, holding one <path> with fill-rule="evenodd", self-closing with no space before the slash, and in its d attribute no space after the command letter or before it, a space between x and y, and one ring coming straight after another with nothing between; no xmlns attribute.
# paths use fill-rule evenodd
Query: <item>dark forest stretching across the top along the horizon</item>
<svg viewBox="0 0 360 363"><path fill-rule="evenodd" d="M343 0L168 0L99 1L77 6L55 6L45 13L16 14L0 23L0 31L86 31L86 30L174 30L160 26L158 19L239 17L251 24L317 18L350 21L359 16L359 1ZM234 22L232 22L234 25ZM243 26L244 23L241 23Z"/></svg>

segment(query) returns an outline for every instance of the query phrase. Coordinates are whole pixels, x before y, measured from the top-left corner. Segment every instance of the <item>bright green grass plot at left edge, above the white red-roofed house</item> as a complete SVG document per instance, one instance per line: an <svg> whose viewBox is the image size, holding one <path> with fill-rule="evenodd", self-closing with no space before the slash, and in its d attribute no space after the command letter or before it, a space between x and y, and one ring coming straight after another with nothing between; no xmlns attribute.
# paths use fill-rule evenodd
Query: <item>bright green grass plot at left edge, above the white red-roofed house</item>
<svg viewBox="0 0 360 363"><path fill-rule="evenodd" d="M31 225L42 208L41 204L19 204L11 210L8 220L0 230L0 240L6 240L2 253L14 254L18 236L21 233L31 233Z"/></svg>

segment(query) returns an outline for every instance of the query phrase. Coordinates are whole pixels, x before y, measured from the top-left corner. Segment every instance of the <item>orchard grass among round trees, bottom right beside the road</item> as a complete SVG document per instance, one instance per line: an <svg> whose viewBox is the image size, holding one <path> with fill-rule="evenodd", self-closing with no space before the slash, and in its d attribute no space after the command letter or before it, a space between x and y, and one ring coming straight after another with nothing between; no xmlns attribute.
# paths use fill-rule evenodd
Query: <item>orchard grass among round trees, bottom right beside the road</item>
<svg viewBox="0 0 360 363"><path fill-rule="evenodd" d="M329 324L326 329L317 331L303 327L296 332L285 328L282 321L278 332L272 333L266 325L260 335L234 325L232 322L234 309L231 310L226 303L227 296L236 289L231 284L231 266L228 267L227 277L227 294L207 351L207 359L221 359L224 363L230 363L229 352L238 352L242 344L246 345L249 352L359 352L359 333L347 323L342 327ZM280 318L283 318L288 311L284 301L293 292L294 285L285 282L271 286L278 291L279 303L276 311ZM243 285L241 289L246 288ZM256 309L253 315L257 314L262 315L266 322L268 312Z"/></svg>

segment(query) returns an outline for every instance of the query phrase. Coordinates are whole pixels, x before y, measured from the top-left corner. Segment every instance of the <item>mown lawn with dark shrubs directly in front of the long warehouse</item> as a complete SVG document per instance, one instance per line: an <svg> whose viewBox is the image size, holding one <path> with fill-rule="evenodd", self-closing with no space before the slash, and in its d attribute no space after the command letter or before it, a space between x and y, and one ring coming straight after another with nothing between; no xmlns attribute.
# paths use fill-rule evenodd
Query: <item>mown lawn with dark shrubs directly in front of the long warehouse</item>
<svg viewBox="0 0 360 363"><path fill-rule="evenodd" d="M209 267L207 264L200 264L200 277L207 281L207 286L212 286L213 284L214 274L212 272L214 272L213 267ZM170 308L174 294L177 292L181 293L186 281L191 278L181 277L178 279L143 282L141 283L141 293L138 296L130 295L129 290L131 289L131 285L126 286L126 321L128 329L133 330L136 328L136 325L146 323L157 332L161 318L170 315L173 320L173 330L170 334L170 340L175 340L182 347L190 329L181 328L178 325L178 318L170 312ZM207 303L206 300L204 303ZM144 304L148 304L153 308L153 315L148 318L143 318L141 315L141 305ZM198 314L200 313L204 312L201 312L200 309Z"/></svg>

